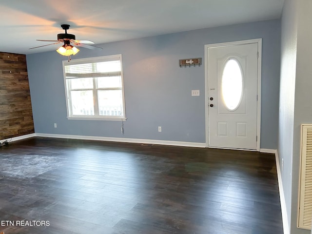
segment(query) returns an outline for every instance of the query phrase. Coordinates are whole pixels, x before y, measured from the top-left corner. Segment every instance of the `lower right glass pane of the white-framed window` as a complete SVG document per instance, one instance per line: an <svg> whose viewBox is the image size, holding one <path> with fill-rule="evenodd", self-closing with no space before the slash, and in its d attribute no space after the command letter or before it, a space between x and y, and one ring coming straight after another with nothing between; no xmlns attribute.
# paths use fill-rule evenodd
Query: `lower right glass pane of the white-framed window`
<svg viewBox="0 0 312 234"><path fill-rule="evenodd" d="M98 91L98 109L100 116L123 116L122 91Z"/></svg>

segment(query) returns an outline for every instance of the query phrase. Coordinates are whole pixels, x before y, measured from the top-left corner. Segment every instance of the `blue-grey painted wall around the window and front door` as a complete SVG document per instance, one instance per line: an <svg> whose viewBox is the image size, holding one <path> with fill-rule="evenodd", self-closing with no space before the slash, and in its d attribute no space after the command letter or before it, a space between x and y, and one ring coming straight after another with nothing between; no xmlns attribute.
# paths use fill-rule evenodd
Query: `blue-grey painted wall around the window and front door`
<svg viewBox="0 0 312 234"><path fill-rule="evenodd" d="M27 55L36 133L206 142L204 45L262 38L261 148L277 148L280 20L238 24L81 48L72 59L122 54L126 102L120 121L68 120L62 60L55 51ZM202 58L180 68L178 59ZM199 89L199 97L191 90ZM53 123L58 123L54 128ZM162 126L159 133L157 126Z"/></svg>

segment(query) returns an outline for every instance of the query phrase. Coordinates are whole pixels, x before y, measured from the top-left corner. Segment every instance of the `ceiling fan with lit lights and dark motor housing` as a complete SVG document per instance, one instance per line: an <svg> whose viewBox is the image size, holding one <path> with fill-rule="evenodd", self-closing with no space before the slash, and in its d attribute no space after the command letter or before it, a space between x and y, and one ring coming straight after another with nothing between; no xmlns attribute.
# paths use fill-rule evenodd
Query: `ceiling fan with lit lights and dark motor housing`
<svg viewBox="0 0 312 234"><path fill-rule="evenodd" d="M75 35L67 33L67 30L70 27L69 24L61 24L60 26L62 27L62 29L65 30L65 33L58 34L58 40L39 40L39 41L54 41L55 43L51 43L51 44L47 44L47 45L40 45L40 46L36 46L33 48L29 48L29 49L35 49L35 48L39 48L39 47L43 47L43 46L64 43L62 46L59 47L57 52L61 55L68 56L69 59L70 59L71 55L76 55L79 52L79 49L76 48L75 46L71 45L71 43L74 45L84 47L87 49L92 49L92 50L95 50L95 49L96 50L102 50L103 49L103 48L98 47L98 46L88 45L88 44L94 44L94 42L91 40L76 40Z"/></svg>

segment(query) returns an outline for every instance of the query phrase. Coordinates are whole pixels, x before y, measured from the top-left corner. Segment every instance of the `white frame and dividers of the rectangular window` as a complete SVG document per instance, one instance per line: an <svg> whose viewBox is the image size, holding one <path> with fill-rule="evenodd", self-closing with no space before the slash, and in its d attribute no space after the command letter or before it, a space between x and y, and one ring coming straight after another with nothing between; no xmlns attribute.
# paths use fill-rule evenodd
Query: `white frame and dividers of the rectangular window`
<svg viewBox="0 0 312 234"><path fill-rule="evenodd" d="M113 60L120 60L121 65L121 91L122 91L122 107L123 107L123 116L101 116L99 115L98 110L98 90L116 90L115 88L98 88L96 86L95 79L97 77L93 77L94 87L93 93L94 93L94 111L95 115L73 115L71 111L71 100L70 100L70 89L67 87L67 78L65 73L65 66L66 65L76 65L76 64L83 64L83 63L94 63L94 62L104 62L104 61L113 61ZM66 108L67 108L67 119L80 119L80 120L119 120L124 121L126 120L126 110L125 110L125 98L124 98L124 83L123 83L123 73L122 73L122 58L121 54L119 55L111 55L111 56L101 56L101 57L94 57L94 58L85 58L85 59L72 59L72 60L63 60L63 74L64 74L64 87L65 87L65 96L66 96ZM114 75L114 74L110 74ZM88 88L83 89L88 90Z"/></svg>

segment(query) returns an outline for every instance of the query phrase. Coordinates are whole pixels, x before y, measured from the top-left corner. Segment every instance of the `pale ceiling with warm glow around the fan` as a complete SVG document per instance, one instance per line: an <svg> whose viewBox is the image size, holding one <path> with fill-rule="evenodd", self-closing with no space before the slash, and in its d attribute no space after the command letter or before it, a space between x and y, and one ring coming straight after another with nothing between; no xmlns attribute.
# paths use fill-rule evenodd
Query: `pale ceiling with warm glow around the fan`
<svg viewBox="0 0 312 234"><path fill-rule="evenodd" d="M284 0L1 0L0 51L32 54L64 33L96 44L278 19Z"/></svg>

